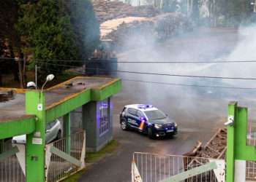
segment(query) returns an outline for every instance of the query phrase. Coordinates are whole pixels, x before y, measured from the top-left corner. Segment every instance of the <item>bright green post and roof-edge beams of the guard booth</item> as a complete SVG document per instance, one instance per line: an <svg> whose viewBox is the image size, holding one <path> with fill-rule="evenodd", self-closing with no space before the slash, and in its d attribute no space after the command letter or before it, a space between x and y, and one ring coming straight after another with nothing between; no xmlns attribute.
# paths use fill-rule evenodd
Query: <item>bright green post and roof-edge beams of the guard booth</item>
<svg viewBox="0 0 256 182"><path fill-rule="evenodd" d="M45 125L53 122L60 116L67 116L69 112L83 106L90 101L104 100L121 90L121 80L114 81L104 87L83 90L65 100L59 100L48 108L45 108L45 95L37 90L26 92L26 114L22 119L1 122L0 139L10 138L15 135L26 134L26 181L45 181ZM40 104L40 105L39 105ZM42 108L42 109L41 109ZM31 115L31 116L30 116ZM70 121L67 122L70 127ZM66 131L70 136L70 130ZM69 138L69 137L68 137ZM70 140L67 140L68 148ZM53 151L56 151L53 149ZM68 150L69 151L69 150ZM58 151L62 155L61 152ZM62 155L80 166L75 158L69 158L68 154Z"/></svg>

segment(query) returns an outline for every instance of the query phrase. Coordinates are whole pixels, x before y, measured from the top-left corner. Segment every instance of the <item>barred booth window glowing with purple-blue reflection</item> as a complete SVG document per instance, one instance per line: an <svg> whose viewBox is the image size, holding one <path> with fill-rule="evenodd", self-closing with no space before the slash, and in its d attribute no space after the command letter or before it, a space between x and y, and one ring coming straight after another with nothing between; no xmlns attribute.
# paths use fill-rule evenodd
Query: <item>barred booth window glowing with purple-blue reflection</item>
<svg viewBox="0 0 256 182"><path fill-rule="evenodd" d="M109 100L99 102L99 135L108 132L110 128L110 104Z"/></svg>

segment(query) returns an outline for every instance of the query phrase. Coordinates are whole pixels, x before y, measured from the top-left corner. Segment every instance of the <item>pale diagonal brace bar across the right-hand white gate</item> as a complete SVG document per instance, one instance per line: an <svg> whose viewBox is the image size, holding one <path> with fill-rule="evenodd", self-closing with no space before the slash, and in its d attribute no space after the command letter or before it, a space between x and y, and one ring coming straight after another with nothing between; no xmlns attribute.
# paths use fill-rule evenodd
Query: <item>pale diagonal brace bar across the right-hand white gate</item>
<svg viewBox="0 0 256 182"><path fill-rule="evenodd" d="M195 175L200 175L202 173L206 173L209 170L217 169L216 162L209 162L206 165L201 165L199 167L194 167L191 170L184 171L182 173L178 173L178 175L173 175L170 178L167 178L165 180L159 181L159 182L178 182L178 181L184 181L187 178L191 178Z"/></svg>

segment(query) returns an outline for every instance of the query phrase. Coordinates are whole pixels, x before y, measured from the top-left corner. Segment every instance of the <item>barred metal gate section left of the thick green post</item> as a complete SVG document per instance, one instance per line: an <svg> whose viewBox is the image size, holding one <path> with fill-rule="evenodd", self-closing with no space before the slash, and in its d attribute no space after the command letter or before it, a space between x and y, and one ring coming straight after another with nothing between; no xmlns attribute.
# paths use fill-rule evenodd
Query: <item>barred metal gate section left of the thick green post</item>
<svg viewBox="0 0 256 182"><path fill-rule="evenodd" d="M10 142L5 142L2 146L2 153L12 149ZM5 159L0 159L0 182L23 182L26 181L23 170L20 167L15 154Z"/></svg>

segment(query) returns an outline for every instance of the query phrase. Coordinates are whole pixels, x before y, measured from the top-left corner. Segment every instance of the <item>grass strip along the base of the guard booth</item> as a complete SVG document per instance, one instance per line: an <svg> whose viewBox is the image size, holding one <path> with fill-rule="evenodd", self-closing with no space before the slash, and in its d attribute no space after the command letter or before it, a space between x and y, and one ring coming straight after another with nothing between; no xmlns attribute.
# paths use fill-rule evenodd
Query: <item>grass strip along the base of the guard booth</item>
<svg viewBox="0 0 256 182"><path fill-rule="evenodd" d="M102 159L107 154L112 154L113 151L118 147L118 142L116 140L110 141L103 149L97 152L86 152L86 163L94 163ZM83 173L86 172L88 167L83 170L80 170L74 175L70 175L68 178L64 179L62 182L76 182Z"/></svg>

